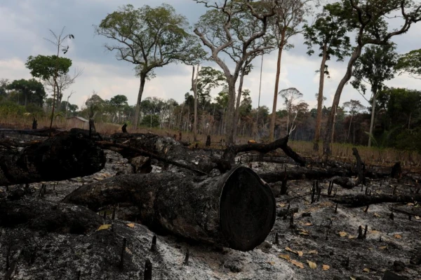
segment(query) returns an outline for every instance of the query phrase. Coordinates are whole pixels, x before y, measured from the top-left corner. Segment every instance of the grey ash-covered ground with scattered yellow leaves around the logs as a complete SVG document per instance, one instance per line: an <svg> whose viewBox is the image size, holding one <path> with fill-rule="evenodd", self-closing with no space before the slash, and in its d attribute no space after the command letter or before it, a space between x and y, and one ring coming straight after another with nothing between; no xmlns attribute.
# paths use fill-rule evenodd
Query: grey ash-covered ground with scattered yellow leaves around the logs
<svg viewBox="0 0 421 280"><path fill-rule="evenodd" d="M67 181L44 182L46 192L41 196L43 183L33 183L29 186L30 194L20 203L41 200L46 206L60 206L65 195L83 184L133 172L133 167L121 155L107 150L105 153L107 163L101 172ZM243 165L249 166L249 163ZM252 162L251 165L256 172L280 172L285 167L287 172L300 169L290 163ZM162 165L156 161L152 161L152 167L152 172L162 172ZM173 167L166 170L179 171ZM371 180L368 192L392 194L395 187L398 193L415 191L418 187L415 180L420 175L407 175L411 180L405 177ZM7 279L7 274L8 279L40 280L143 279L145 262L149 259L152 279L421 279L421 265L413 264L417 263L417 255L421 258L421 219L415 215L409 219L407 214L395 212L392 220L389 209L393 206L421 213L420 204L375 204L367 211L364 211L366 207L350 208L339 204L335 212L336 205L327 195L329 180L319 181L321 196L314 203L311 203L311 195L306 195L312 184L313 181L306 179L288 181L288 194L276 197L280 216L276 217L266 241L253 251L235 251L172 235L158 235L156 251L151 251L155 233L138 223L133 207L119 205L114 220L112 209L103 209L106 218L103 218L103 211L97 213L104 225L110 225L103 230L94 228L71 234L36 230L27 223L0 227L0 276L4 274ZM281 187L280 182L271 185L274 193ZM8 191L0 187L0 203L17 188L21 186L9 186ZM334 186L333 189L337 189L337 196L366 192L365 187L361 190L361 187ZM302 195L306 196L294 198ZM288 205L290 209L298 208L293 225L290 214L283 218ZM62 211L78 209L81 207L72 204L62 207ZM357 238L360 225L363 230L366 225L368 228L364 239ZM275 244L276 234L279 244ZM124 238L126 247L123 249ZM187 248L189 260L186 264ZM386 278L392 276L385 274L403 278Z"/></svg>

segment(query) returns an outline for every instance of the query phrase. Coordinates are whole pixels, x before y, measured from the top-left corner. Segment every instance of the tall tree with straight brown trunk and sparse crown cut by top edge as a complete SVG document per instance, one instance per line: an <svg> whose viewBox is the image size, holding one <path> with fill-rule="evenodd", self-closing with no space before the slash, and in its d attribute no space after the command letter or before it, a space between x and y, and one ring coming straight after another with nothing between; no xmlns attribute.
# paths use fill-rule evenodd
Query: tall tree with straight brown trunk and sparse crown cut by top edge
<svg viewBox="0 0 421 280"><path fill-rule="evenodd" d="M271 1L271 0L269 0ZM274 103L272 108L272 120L269 127L269 141L274 141L276 104L278 100L279 76L281 76L281 57L283 49L292 48L293 45L288 44L291 36L300 33L299 28L304 17L311 10L310 3L313 0L275 0L276 8L275 16L270 19L270 26L276 38L276 47L278 48L278 60L276 62L276 77L274 88Z"/></svg>

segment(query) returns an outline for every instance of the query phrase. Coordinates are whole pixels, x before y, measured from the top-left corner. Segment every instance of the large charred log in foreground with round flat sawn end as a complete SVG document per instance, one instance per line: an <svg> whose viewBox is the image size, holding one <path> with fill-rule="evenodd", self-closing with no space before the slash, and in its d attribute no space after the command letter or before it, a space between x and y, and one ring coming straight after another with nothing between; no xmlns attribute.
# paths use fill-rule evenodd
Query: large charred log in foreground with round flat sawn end
<svg viewBox="0 0 421 280"><path fill-rule="evenodd" d="M253 170L236 167L213 178L183 174L131 174L82 186L63 202L100 207L131 202L155 232L253 250L276 216L274 195Z"/></svg>

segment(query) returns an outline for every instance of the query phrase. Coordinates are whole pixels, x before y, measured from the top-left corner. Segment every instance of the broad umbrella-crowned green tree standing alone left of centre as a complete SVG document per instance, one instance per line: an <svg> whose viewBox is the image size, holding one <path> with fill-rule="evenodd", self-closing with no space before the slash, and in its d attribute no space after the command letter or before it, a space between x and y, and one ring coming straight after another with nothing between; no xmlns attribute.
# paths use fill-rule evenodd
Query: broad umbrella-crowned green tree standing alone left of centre
<svg viewBox="0 0 421 280"><path fill-rule="evenodd" d="M118 60L135 64L136 75L140 77L135 127L145 83L155 76L154 69L177 62L196 64L201 59L203 50L195 36L187 32L188 28L187 19L166 3L156 8L123 6L96 27L96 34L115 42L107 43L107 50L115 50Z"/></svg>

